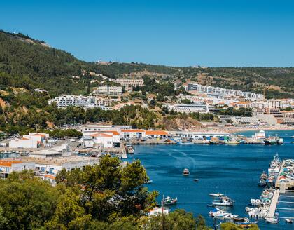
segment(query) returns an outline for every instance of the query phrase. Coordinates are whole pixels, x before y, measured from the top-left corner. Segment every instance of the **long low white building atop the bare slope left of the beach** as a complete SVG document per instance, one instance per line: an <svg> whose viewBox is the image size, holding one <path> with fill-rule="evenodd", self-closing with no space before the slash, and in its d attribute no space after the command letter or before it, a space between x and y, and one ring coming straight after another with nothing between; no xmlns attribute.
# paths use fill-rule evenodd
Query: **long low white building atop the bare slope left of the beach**
<svg viewBox="0 0 294 230"><path fill-rule="evenodd" d="M169 110L179 113L208 113L209 107L205 102L195 102L193 104L166 104Z"/></svg>

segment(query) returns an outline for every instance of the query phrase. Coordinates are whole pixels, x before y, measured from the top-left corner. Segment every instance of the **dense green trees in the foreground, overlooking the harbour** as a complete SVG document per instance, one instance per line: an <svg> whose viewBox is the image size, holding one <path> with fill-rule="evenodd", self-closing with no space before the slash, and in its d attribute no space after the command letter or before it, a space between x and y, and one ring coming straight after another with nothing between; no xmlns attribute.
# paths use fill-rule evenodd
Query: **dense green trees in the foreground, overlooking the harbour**
<svg viewBox="0 0 294 230"><path fill-rule="evenodd" d="M56 187L31 171L13 172L0 180L0 229L209 229L184 210L149 219L158 192L144 187L139 161L120 163L106 156L83 171L62 170Z"/></svg>

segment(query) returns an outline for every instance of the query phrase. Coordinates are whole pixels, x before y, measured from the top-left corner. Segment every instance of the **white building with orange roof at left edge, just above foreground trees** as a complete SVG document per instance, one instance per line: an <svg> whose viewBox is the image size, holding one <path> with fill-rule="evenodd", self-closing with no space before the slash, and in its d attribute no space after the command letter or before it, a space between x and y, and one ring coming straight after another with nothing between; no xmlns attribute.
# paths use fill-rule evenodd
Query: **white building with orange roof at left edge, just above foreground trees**
<svg viewBox="0 0 294 230"><path fill-rule="evenodd" d="M0 178L8 177L11 172L21 172L22 170L34 170L34 161L23 162L17 160L0 160Z"/></svg>

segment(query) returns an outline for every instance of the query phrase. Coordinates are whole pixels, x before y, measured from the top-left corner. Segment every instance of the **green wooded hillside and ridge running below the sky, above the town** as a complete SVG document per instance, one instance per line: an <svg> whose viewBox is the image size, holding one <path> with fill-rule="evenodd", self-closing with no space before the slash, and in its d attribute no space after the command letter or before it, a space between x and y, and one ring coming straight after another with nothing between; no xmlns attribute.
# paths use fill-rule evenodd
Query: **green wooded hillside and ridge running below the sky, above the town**
<svg viewBox="0 0 294 230"><path fill-rule="evenodd" d="M50 95L89 93L94 72L111 78L145 75L181 86L186 81L263 93L267 97L294 97L294 68L167 67L144 63L97 65L83 62L44 41L0 31L0 86L44 88ZM79 76L80 78L72 78ZM99 77L97 77L99 80ZM99 81L98 81L99 82Z"/></svg>

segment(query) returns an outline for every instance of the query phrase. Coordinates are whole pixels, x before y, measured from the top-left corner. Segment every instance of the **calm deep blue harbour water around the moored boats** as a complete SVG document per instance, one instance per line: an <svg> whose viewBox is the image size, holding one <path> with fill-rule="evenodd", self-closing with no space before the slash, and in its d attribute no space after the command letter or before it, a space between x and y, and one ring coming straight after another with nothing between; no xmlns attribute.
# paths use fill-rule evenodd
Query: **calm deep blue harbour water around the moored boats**
<svg viewBox="0 0 294 230"><path fill-rule="evenodd" d="M242 133L251 136L254 132ZM274 154L281 158L294 158L294 144L290 136L293 131L267 131L284 138L283 145L265 146L260 144L244 145L137 145L134 156L141 161L153 180L149 189L162 195L177 197L179 203L174 208L184 208L195 215L201 214L213 225L208 212L212 198L209 193L221 192L235 199L230 212L246 217L245 207L251 198L260 198L262 188L258 187L260 173L267 170ZM189 168L190 176L183 177L183 168ZM199 182L194 182L199 178ZM293 193L294 195L294 193ZM294 201L294 199L292 199ZM294 208L294 204L287 207ZM294 217L293 211L281 211L280 216ZM294 229L293 224L267 224L262 220L260 229Z"/></svg>

